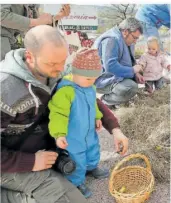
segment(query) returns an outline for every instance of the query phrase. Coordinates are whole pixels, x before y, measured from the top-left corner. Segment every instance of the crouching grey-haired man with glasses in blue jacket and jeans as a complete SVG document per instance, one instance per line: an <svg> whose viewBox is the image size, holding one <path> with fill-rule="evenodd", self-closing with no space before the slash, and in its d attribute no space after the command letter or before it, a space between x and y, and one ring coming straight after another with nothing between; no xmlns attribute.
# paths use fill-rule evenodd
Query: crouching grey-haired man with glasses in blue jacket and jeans
<svg viewBox="0 0 171 203"><path fill-rule="evenodd" d="M103 94L101 100L109 107L128 102L138 91L137 81L144 82L141 67L134 66L134 45L142 33L140 22L127 18L103 33L93 45L103 66L96 80L97 92Z"/></svg>

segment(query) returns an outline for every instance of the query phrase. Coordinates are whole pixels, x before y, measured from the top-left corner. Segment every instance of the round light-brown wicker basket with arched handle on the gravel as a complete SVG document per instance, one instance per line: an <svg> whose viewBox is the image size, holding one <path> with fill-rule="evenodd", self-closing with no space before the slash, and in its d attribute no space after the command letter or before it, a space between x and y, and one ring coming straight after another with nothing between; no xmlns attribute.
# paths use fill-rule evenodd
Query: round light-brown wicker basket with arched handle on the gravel
<svg viewBox="0 0 171 203"><path fill-rule="evenodd" d="M143 159L147 167L134 165L119 169L125 162L134 158ZM109 180L109 191L117 203L143 203L149 198L153 187L154 176L151 165L147 157L142 154L125 157L113 169Z"/></svg>

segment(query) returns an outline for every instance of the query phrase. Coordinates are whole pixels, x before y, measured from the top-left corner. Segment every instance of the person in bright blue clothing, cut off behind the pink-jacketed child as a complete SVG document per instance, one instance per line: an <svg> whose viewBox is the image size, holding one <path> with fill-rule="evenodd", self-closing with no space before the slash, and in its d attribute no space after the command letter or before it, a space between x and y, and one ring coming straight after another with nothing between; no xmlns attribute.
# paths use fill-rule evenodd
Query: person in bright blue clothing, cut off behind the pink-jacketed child
<svg viewBox="0 0 171 203"><path fill-rule="evenodd" d="M160 41L160 47L163 50L158 29L161 26L170 28L170 4L141 5L135 18L141 21L144 36L146 38L152 36L157 37Z"/></svg>

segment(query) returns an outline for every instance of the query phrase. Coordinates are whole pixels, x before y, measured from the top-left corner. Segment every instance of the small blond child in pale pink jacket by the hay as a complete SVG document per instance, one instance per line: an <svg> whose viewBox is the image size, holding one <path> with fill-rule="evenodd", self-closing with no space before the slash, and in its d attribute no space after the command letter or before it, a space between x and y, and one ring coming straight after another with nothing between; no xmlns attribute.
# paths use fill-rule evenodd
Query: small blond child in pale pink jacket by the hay
<svg viewBox="0 0 171 203"><path fill-rule="evenodd" d="M138 65L143 68L143 76L145 82L145 91L150 92L155 89L161 89L164 85L163 69L170 70L170 64L166 60L165 55L160 51L158 39L156 37L150 37L147 40L148 50L144 53Z"/></svg>

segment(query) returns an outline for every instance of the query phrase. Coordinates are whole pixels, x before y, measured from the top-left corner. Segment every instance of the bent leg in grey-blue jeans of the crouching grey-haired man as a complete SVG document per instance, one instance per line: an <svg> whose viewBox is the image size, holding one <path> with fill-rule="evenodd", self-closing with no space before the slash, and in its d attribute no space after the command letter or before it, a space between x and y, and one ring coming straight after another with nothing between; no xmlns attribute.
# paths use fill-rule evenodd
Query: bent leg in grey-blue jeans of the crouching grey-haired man
<svg viewBox="0 0 171 203"><path fill-rule="evenodd" d="M107 86L103 90L97 90L97 92L104 93L102 101L107 105L118 105L128 102L136 95L138 84L131 79L124 79L119 83ZM107 91L105 92L105 90Z"/></svg>

